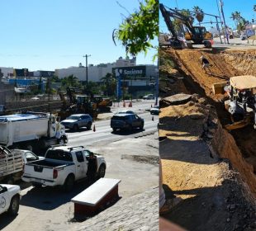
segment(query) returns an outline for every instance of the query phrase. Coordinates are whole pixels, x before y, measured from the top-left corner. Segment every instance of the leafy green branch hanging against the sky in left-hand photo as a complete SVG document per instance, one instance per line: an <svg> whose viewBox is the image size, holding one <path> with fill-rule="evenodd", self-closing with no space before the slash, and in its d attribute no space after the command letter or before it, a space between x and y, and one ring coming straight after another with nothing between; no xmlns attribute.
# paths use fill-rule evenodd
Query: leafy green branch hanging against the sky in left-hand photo
<svg viewBox="0 0 256 231"><path fill-rule="evenodd" d="M120 40L126 53L147 53L153 48L152 40L159 35L159 0L140 2L140 10L126 17L118 30L113 31L113 40Z"/></svg>

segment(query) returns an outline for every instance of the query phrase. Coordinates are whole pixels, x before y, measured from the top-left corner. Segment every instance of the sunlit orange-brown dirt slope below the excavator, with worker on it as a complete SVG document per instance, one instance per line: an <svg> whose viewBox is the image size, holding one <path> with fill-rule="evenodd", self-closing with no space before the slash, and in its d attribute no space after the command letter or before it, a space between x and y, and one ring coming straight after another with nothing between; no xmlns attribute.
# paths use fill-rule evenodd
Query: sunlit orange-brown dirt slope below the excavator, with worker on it
<svg viewBox="0 0 256 231"><path fill-rule="evenodd" d="M176 64L176 68L186 77L185 85L192 85L191 81L199 85L193 92L203 93L207 97L219 101L223 96L213 95L212 84L216 82L227 82L230 77L240 73L225 62L224 57L218 52L206 52L206 50L168 50L170 59ZM209 60L212 75L205 73L201 67L200 57L204 55ZM191 79L190 79L191 78ZM189 82L190 81L190 82ZM187 86L186 86L187 87ZM199 90L199 87L201 88Z"/></svg>

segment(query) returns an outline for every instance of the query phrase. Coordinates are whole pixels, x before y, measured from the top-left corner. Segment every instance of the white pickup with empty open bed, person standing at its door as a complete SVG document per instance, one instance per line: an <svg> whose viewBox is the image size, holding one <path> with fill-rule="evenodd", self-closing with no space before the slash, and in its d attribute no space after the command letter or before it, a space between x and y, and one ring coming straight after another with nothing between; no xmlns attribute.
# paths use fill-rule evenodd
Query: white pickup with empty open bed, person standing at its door
<svg viewBox="0 0 256 231"><path fill-rule="evenodd" d="M75 181L87 177L90 153L83 146L55 145L47 150L45 159L26 163L21 178L34 186L63 186L64 191L71 191ZM104 177L106 162L102 156L94 155L97 158L97 178Z"/></svg>

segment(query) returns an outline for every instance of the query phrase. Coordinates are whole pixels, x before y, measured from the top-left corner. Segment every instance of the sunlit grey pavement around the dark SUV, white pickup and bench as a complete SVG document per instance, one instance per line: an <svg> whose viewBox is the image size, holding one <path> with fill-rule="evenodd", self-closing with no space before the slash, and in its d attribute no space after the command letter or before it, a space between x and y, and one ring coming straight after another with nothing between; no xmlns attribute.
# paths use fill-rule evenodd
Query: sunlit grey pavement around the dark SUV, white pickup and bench
<svg viewBox="0 0 256 231"><path fill-rule="evenodd" d="M158 186L159 181L159 167L157 163L152 163L155 157L158 158L159 153L158 116L154 115L154 121L152 121L152 115L149 114L149 111L145 111L145 109L150 108L151 104L154 105L154 101L139 101L135 102L132 108L126 107L126 109L135 111L145 119L144 131L112 133L110 117L116 111L124 109L121 106L119 108L113 106L111 113L102 114L103 120L95 122L95 132L86 129L75 133L68 132L70 145L86 145L93 152L101 153L104 156L107 162L106 177L121 179L119 186L121 206L118 206L120 203L117 203L116 208L112 206L110 214L112 216L111 223L116 223L116 225L123 226L120 223L120 218L114 213L115 211L118 212L120 208L125 208L126 205L124 213L121 212L126 217L126 219L123 219L124 224L130 220L134 221L134 217L139 219L141 213L145 213L143 215L149 219L142 219L140 224L134 224L133 226L138 227L138 229L145 225L157 226L158 219L155 216L155 210L151 211L152 205L149 205L149 202L152 201L154 209L158 208L158 203L156 203L158 200L157 193L154 193L155 196L151 196L150 193L149 198L144 195L145 191ZM137 136L140 138L135 139ZM135 156L137 158L134 158ZM7 214L1 214L0 229L4 231L78 230L77 226L82 227L82 224L70 222L73 219L73 203L70 200L86 187L88 187L88 183L84 181L77 184L72 192L63 193L58 188L42 187L38 189L30 185L21 185L22 197L19 214L15 218L9 217ZM157 192L157 190L155 191ZM130 196L136 195L140 195L140 199L139 197L133 197L130 200L134 201L135 205L138 204L137 200L140 200L143 205L145 204L140 208L141 210L131 204L130 200L126 201ZM142 201L141 198L144 198L144 200ZM135 210L132 210L134 208ZM147 210L147 208L149 209ZM106 213L108 214L109 211L106 210ZM104 214L103 217L105 217ZM95 219L92 220L90 230L98 230L91 229L91 226L95 225L93 224L94 221ZM87 226L87 224L84 225Z"/></svg>

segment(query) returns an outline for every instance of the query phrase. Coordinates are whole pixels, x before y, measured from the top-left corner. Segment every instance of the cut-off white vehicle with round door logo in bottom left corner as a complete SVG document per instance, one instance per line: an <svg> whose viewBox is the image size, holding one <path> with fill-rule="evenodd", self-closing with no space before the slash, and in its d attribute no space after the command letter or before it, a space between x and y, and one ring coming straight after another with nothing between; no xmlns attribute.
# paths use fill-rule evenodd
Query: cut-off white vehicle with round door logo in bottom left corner
<svg viewBox="0 0 256 231"><path fill-rule="evenodd" d="M17 215L20 207L20 186L0 185L0 214Z"/></svg>

